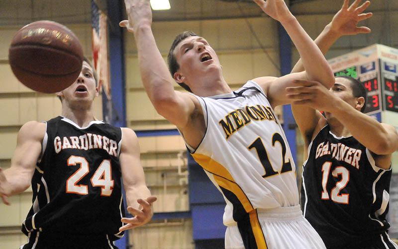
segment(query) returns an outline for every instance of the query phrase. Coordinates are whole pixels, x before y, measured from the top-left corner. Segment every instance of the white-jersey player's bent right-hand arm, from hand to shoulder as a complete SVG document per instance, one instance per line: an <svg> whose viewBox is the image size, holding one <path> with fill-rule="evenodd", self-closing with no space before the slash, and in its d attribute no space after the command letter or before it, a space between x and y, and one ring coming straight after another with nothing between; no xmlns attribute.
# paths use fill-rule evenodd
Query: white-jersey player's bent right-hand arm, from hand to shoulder
<svg viewBox="0 0 398 249"><path fill-rule="evenodd" d="M314 41L307 35L298 23L296 17L289 11L284 0L254 0L261 9L272 18L278 20L295 44L306 71L296 75L286 75L275 80L257 78L273 106L288 104L285 88L292 84L292 79L303 78L317 80L330 87L334 77L329 64L325 60Z"/></svg>

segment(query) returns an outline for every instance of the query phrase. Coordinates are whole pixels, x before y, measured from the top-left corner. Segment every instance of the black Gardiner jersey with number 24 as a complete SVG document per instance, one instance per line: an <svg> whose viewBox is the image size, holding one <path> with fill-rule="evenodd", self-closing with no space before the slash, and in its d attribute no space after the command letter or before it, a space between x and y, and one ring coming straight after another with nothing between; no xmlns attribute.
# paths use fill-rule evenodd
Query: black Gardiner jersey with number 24
<svg viewBox="0 0 398 249"><path fill-rule="evenodd" d="M64 117L46 123L22 232L122 237L121 129L102 121L79 127Z"/></svg>

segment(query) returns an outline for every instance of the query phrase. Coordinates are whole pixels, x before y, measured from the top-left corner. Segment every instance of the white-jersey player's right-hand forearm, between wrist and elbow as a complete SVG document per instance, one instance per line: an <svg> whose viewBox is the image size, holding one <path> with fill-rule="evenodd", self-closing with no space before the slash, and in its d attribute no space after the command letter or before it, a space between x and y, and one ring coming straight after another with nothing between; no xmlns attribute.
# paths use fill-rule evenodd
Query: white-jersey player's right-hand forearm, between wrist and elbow
<svg viewBox="0 0 398 249"><path fill-rule="evenodd" d="M298 50L308 79L322 82L328 88L331 87L334 83L333 72L320 49L304 31L298 20L293 17L282 25Z"/></svg>

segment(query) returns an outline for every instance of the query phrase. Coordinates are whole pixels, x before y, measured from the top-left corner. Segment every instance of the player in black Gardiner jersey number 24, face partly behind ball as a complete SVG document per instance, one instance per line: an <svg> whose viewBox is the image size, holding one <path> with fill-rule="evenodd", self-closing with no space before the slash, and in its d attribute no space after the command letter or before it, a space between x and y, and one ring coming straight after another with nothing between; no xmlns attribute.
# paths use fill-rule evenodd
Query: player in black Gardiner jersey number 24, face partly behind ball
<svg viewBox="0 0 398 249"><path fill-rule="evenodd" d="M145 184L137 136L94 117L95 73L85 59L76 81L57 93L62 116L24 124L11 167L0 170L5 204L32 184L33 203L22 224L28 243L22 249L115 249L113 241L124 230L152 218L156 197ZM123 218L121 179L133 218Z"/></svg>

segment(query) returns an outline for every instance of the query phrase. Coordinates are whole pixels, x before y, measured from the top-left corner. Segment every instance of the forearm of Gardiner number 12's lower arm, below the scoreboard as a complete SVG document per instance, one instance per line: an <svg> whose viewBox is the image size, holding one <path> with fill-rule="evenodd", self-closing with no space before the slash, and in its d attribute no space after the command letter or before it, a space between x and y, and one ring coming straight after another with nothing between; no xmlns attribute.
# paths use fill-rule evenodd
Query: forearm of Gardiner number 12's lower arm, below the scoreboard
<svg viewBox="0 0 398 249"><path fill-rule="evenodd" d="M370 151L379 155L387 155L397 149L396 139L381 123L355 110L343 100L337 101L333 106L332 115Z"/></svg>

